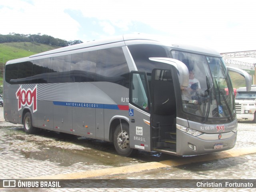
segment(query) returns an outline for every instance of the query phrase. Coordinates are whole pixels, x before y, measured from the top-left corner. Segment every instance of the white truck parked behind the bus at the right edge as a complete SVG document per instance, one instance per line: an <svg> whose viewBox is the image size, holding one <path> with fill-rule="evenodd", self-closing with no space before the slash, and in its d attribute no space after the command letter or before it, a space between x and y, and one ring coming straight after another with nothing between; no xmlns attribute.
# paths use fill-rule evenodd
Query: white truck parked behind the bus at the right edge
<svg viewBox="0 0 256 192"><path fill-rule="evenodd" d="M246 91L246 87L236 90L236 118L238 120L254 121L256 123L256 85Z"/></svg>

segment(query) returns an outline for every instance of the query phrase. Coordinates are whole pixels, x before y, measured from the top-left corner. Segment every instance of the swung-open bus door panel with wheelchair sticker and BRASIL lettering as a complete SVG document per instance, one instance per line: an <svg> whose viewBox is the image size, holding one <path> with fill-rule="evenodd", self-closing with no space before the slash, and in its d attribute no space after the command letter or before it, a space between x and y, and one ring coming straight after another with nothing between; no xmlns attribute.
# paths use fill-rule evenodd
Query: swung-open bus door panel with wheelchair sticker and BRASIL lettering
<svg viewBox="0 0 256 192"><path fill-rule="evenodd" d="M130 72L129 121L130 148L151 151L150 94L146 72Z"/></svg>

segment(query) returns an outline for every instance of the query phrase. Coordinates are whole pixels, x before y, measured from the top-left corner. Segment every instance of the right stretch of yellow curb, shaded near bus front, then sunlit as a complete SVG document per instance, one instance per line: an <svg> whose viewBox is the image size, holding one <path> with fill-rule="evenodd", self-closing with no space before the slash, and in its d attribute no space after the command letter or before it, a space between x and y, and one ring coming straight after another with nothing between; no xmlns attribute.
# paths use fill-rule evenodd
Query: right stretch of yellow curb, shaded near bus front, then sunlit
<svg viewBox="0 0 256 192"><path fill-rule="evenodd" d="M190 156L190 157L184 157L184 158L178 158L178 159L172 159L172 160L165 160L165 161L160 161L160 163L168 166L176 167L184 164L203 162L203 161L212 161L212 160L236 157L236 156L252 154L252 153L256 153L256 147L247 147L247 148L240 148L240 149L236 148L236 149L230 149L227 151L216 152L212 154L204 154L199 156Z"/></svg>

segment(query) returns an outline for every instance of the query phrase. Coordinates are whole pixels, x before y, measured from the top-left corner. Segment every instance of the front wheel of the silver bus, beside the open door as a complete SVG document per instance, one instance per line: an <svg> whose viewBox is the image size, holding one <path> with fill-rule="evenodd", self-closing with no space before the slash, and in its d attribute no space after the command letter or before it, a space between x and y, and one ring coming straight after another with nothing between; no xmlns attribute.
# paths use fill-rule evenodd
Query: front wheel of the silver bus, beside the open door
<svg viewBox="0 0 256 192"><path fill-rule="evenodd" d="M129 125L126 123L118 124L114 131L114 146L116 152L122 156L132 156L138 150L130 148L130 140L129 140Z"/></svg>

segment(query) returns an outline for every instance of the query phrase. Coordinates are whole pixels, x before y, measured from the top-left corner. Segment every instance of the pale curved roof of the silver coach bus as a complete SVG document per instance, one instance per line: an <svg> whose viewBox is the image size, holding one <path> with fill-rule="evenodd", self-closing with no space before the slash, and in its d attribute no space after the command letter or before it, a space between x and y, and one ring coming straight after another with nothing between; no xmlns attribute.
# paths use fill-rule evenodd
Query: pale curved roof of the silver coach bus
<svg viewBox="0 0 256 192"><path fill-rule="evenodd" d="M123 36L116 36L116 37L106 38L106 39L102 39L102 40L93 40L93 41L84 42L81 44L66 46L66 47L34 54L29 57L11 60L11 61L8 61L6 64L15 63L15 62L23 62L23 61L27 61L27 60L34 60L34 59L37 59L37 57L39 57L39 56L47 56L47 55L51 55L51 54L61 54L61 53L68 52L68 51L80 50L80 49L84 49L84 48L92 48L94 46L103 46L103 45L114 44L114 43L119 43L123 46L132 45L132 44L156 44L156 45L162 45L162 46L170 46L170 47L173 47L175 50L183 50L183 51L189 51L189 52L193 52L193 53L197 53L197 54L206 54L209 56L221 57L221 55L218 52L216 52L215 50L212 50L210 48L191 46L191 45L187 45L187 44L186 45L185 44L172 44L172 43L168 43L168 42L163 42L161 40L157 40L156 37L152 38L152 36L148 36L148 35L126 34Z"/></svg>

